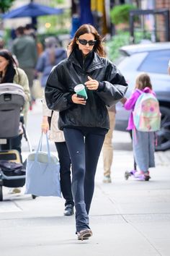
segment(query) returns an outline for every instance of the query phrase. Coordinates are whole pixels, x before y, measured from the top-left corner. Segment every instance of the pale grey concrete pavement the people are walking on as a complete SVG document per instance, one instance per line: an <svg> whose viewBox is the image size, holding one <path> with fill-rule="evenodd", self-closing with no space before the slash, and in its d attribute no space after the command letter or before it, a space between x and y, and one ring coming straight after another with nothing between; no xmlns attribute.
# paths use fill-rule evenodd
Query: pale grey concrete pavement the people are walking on
<svg viewBox="0 0 170 256"><path fill-rule="evenodd" d="M38 131L40 112L35 108L29 116L32 121L27 129L34 147L38 136L32 134L32 127ZM125 171L133 167L130 138L126 133L115 132L113 144L112 184L102 183L102 155L99 158L90 212L94 233L91 239L76 239L74 216L63 216L63 199L32 200L30 195L24 195L24 188L20 195L10 195L4 188L4 201L0 202L0 255L169 256L170 153L156 153L150 182L125 181ZM23 148L26 157L27 146L23 144Z"/></svg>

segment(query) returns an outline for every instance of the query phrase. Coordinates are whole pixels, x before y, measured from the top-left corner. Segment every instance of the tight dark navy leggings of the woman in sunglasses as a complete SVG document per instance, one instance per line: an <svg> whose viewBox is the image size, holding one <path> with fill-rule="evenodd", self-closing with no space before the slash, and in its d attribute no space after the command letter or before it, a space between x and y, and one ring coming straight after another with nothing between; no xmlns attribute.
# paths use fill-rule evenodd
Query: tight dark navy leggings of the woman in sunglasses
<svg viewBox="0 0 170 256"><path fill-rule="evenodd" d="M76 208L76 231L89 229L89 209L94 193L99 154L107 129L64 128L72 164L72 192Z"/></svg>

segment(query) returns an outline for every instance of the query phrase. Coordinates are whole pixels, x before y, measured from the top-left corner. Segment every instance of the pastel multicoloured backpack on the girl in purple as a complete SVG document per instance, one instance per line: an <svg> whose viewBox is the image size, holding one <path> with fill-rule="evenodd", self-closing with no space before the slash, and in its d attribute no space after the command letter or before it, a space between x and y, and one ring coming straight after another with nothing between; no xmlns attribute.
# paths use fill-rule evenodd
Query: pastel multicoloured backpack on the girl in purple
<svg viewBox="0 0 170 256"><path fill-rule="evenodd" d="M133 111L135 128L140 132L156 132L161 126L159 103L152 93L142 93Z"/></svg>

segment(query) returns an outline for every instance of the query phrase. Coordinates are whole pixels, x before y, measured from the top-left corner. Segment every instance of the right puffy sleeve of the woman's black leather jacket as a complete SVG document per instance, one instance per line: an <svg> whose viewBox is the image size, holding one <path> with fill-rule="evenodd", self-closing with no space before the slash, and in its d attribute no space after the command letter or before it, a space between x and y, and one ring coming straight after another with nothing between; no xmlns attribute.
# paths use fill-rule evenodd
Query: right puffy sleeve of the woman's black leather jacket
<svg viewBox="0 0 170 256"><path fill-rule="evenodd" d="M107 66L105 77L106 80L102 81L102 90L97 90L97 95L107 106L112 106L125 96L128 84L120 70L111 62Z"/></svg>

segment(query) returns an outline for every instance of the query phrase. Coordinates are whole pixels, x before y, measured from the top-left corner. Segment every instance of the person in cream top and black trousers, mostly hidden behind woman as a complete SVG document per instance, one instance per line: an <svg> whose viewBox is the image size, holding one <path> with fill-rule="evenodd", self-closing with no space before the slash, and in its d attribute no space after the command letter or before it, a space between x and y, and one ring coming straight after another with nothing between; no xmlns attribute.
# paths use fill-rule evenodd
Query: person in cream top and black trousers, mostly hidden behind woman
<svg viewBox="0 0 170 256"><path fill-rule="evenodd" d="M42 98L42 132L45 134L50 129L50 140L55 142L55 147L58 151L58 159L60 162L60 176L61 176L61 192L65 202L65 216L73 215L73 195L71 192L71 159L68 153L66 140L63 132L58 129L58 111L51 111Z"/></svg>

